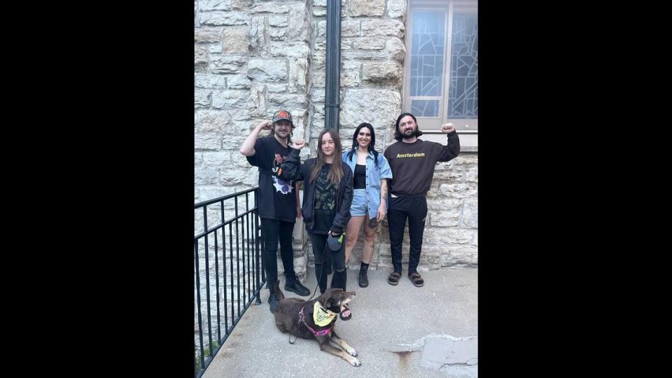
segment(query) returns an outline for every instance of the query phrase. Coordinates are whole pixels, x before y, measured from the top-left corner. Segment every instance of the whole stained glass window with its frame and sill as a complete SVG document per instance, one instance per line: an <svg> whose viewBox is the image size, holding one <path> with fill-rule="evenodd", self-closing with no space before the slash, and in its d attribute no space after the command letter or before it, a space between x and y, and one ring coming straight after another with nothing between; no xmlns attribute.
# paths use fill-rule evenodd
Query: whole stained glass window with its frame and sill
<svg viewBox="0 0 672 378"><path fill-rule="evenodd" d="M409 0L405 111L478 130L478 1Z"/></svg>

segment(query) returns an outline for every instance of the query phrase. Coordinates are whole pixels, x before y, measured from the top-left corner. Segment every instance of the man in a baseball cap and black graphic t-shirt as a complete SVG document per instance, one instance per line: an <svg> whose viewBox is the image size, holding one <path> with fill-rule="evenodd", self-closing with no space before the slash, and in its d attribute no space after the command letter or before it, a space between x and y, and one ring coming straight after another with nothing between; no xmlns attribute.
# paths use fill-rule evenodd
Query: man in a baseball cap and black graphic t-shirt
<svg viewBox="0 0 672 378"><path fill-rule="evenodd" d="M257 125L240 147L240 153L247 157L247 161L259 167L258 211L265 241L262 258L270 290L268 303L271 312L279 302L273 292L278 281L278 240L285 271L285 290L304 297L310 295L310 290L296 278L293 266L292 232L297 216L301 218L298 185L278 177L285 157L292 151L288 144L291 143L293 128L292 114L286 110L277 111L272 121L265 120ZM270 130L271 133L267 137L258 138L261 130Z"/></svg>

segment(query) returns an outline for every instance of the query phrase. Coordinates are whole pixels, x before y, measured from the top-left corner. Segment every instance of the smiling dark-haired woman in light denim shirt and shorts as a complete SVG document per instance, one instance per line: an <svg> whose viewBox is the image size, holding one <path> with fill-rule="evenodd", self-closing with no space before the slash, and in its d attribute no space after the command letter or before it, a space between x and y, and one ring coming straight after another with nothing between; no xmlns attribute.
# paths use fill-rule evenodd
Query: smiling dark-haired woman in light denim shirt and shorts
<svg viewBox="0 0 672 378"><path fill-rule="evenodd" d="M376 135L370 123L362 123L352 137L352 149L343 153L345 162L353 172L353 197L350 206L352 218L348 222L345 244L345 261L350 260L357 242L359 229L364 223L364 247L359 270L359 286L369 286L366 276L373 255L373 239L377 225L387 213L387 180L392 179L390 165L383 154L374 150Z"/></svg>

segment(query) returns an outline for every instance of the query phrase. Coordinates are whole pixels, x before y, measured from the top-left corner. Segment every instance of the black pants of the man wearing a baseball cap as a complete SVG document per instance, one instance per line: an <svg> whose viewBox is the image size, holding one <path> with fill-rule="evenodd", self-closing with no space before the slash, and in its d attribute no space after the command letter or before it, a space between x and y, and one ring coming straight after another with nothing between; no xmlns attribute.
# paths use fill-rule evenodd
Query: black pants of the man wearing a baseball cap
<svg viewBox="0 0 672 378"><path fill-rule="evenodd" d="M294 223L261 218L261 232L264 237L264 265L269 290L278 281L278 240L280 240L280 258L285 269L287 282L294 281L294 252L292 250L292 232Z"/></svg>

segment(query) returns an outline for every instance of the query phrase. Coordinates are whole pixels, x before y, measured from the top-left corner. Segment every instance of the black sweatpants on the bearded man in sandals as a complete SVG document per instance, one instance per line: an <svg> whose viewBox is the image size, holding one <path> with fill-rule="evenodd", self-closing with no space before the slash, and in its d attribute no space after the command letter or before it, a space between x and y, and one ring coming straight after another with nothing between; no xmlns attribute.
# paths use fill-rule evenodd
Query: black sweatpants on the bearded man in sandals
<svg viewBox="0 0 672 378"><path fill-rule="evenodd" d="M426 197L392 197L388 196L390 209L387 224L390 231L390 249L394 271L401 273L401 243L404 239L406 219L408 219L408 236L411 248L408 256L408 274L417 272L422 249L422 234L425 231L427 218Z"/></svg>

